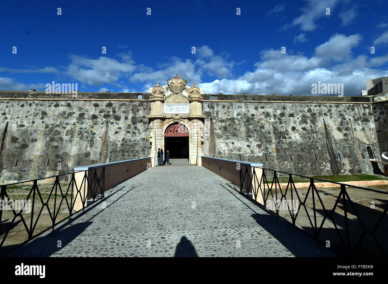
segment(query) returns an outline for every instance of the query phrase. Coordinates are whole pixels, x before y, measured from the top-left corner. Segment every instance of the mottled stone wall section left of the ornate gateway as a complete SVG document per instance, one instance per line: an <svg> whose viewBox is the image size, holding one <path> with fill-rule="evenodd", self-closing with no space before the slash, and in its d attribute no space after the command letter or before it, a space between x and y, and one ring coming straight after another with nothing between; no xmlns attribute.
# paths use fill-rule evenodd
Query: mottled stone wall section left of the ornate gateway
<svg viewBox="0 0 388 284"><path fill-rule="evenodd" d="M150 154L149 102L1 100L0 109L3 183Z"/></svg>

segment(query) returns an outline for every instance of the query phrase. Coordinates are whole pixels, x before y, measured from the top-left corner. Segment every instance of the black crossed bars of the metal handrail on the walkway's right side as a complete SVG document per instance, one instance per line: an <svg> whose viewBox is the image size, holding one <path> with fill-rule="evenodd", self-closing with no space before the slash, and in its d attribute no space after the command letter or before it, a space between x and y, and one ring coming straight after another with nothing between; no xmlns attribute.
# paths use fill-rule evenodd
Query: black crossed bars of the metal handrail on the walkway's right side
<svg viewBox="0 0 388 284"><path fill-rule="evenodd" d="M257 173L256 173L258 169L260 169L260 171L262 171L260 180L259 180L259 178L257 176ZM268 182L267 175L266 175L265 171L274 172L274 175L272 177L272 181L271 182ZM308 236L313 238L317 242L317 245L318 244L325 245L325 243L324 243L325 240L322 240L320 238L320 232L322 231L323 225L326 222L326 220L330 219L331 222L333 223L333 225L334 225L334 227L336 229L336 232L338 234L338 237L340 239L341 249L342 249L342 252L340 252L340 253L343 253L344 255L354 255L354 254L357 254L357 249L360 248L360 244L363 241L365 235L369 234L374 239L374 241L376 242L377 247L379 249L379 252L382 255L386 255L387 254L387 252L388 252L387 251L387 248L388 248L387 238L383 237L384 238L383 240L381 240L381 239L379 240L377 238L378 236L376 236L376 232L379 229L379 226L381 225L383 219L387 215L386 213L388 211L388 204L383 209L383 212L381 212L381 214L379 214L379 218L376 221L376 224L372 224L372 225L374 225L373 229L372 230L371 229L367 229L365 227L364 222L362 221L362 218L360 217L359 213L357 212L357 209L355 208L355 206L353 204L354 201L352 201L350 199L350 196L349 196L349 194L346 191L346 187L357 188L357 189L364 189L364 190L367 190L367 191L374 191L374 192L382 193L382 194L388 194L388 192L379 191L379 190L375 190L375 189L371 189L371 188L363 188L363 187L360 187L360 186L352 186L352 185L344 184L344 183L340 183L340 182L332 182L332 181L326 181L326 180L323 180L323 179L315 179L313 177L307 177L307 176L301 176L301 175L297 175L297 174L281 172L281 171L277 171L277 170L265 169L265 168L262 168L262 167L249 167L249 166L246 166L245 167L245 172L243 172L242 168L240 168L239 172L240 172L240 190L239 190L240 194L244 195L246 198L251 200L251 202L255 203L258 207L262 208L263 210L265 210L265 211L267 211L269 213L275 214L277 218L282 219L282 220L288 222L289 224L293 225L294 227L296 227L300 231L304 232L305 234L307 234ZM279 173L279 172L281 172L282 174L288 174L287 186L286 187L283 186L283 190L285 189L284 192L282 191L282 187L280 185L280 182L279 182L279 179L278 179L278 176L277 176L277 173ZM295 187L295 184L294 184L294 181L293 181L293 176L304 177L304 178L308 178L310 180L310 186L309 186L309 188L307 190L307 193L306 193L305 198L304 198L303 201L301 200L301 198L300 198L300 196L298 194L298 191L296 190L296 187ZM319 191L315 187L315 183L314 183L315 180L317 180L317 181L324 181L324 182L331 182L333 184L340 185L340 193L336 197L336 202L334 204L334 207L333 208L328 208L328 209L331 209L331 213L328 213L328 211L326 209L326 207L328 205L326 204L326 207L325 207L322 199L320 198ZM271 186L269 186L269 184L271 184ZM266 185L267 185L267 187L266 187ZM266 189L267 189L267 194L265 192ZM290 210L290 206L289 206L288 202L286 203L287 204L288 213L289 213L289 217L291 218L292 222L290 222L289 220L287 220L286 218L284 218L282 216L279 216L279 208L275 208L276 209L275 211L271 211L269 208L267 208L266 205L267 205L268 198L271 197L272 200L274 200L274 194L272 193L273 189L275 189L275 198L276 198L276 200L278 201L279 200L278 197L280 197L280 202L282 202L283 199L285 201L289 201L289 198L287 198L287 196L286 196L286 194L288 193L288 190L291 191L291 200L293 200L293 193L296 194L296 196L298 198L298 201L299 201L298 210L296 211L296 213L294 212L296 208L294 208L293 202L291 202L292 212ZM278 194L278 189L280 190L279 194ZM308 213L308 210L306 208L306 204L305 204L306 201L307 201L307 197L308 197L308 194L310 193L310 191L311 191L311 194L312 194L312 201L313 201L313 204L312 204L312 209L313 209L313 212L314 212L313 216L310 216L310 214ZM257 201L259 192L261 194L263 204L261 204L261 203L259 203ZM250 194L251 194L251 196L250 196ZM271 196L269 196L269 194L271 194ZM316 197L318 198L317 202L319 201L319 204L322 206L322 209L323 209L324 213L317 212L317 205L315 204L316 202L315 202L314 194L316 194ZM343 211L344 211L343 218L345 219L345 228L344 229L345 229L345 233L346 233L346 239L344 239L343 236L341 236L340 230L339 230L339 228L337 226L337 222L333 219L334 213L338 213L338 212L335 212L335 211L336 211L336 208L337 208L338 204L340 203L340 201L343 202L342 203L343 204ZM354 244L354 242L352 243L352 241L350 241L351 229L349 228L348 208L346 208L346 201L348 201L350 203L350 208L353 210L354 215L357 217L357 220L359 221L359 223L360 223L360 225L362 227L361 236L358 239L356 244ZM305 209L308 221L309 221L309 223L311 225L311 229L314 232L313 235L312 234L308 234L305 230L302 230L301 228L299 228L296 225L296 219L298 218L298 213L299 213L299 210L301 209L302 206ZM317 213L320 214L323 217L323 220L322 220L320 225L317 224ZM383 248L382 243L385 245L385 248ZM338 253L338 251L336 251L336 252Z"/></svg>

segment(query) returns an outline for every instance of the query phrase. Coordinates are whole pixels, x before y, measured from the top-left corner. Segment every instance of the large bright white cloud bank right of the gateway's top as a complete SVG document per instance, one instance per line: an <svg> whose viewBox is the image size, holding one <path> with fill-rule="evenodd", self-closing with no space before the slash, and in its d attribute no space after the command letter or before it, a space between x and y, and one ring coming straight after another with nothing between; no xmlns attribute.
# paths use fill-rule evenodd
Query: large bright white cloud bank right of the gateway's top
<svg viewBox="0 0 388 284"><path fill-rule="evenodd" d="M317 46L312 57L282 54L280 50L263 50L254 71L236 79L221 79L201 83L205 93L241 93L271 95L312 95L311 84L343 83L345 96L358 96L365 89L366 78L387 76L386 69L379 69L388 62L388 54L368 59L365 55L352 57L352 47L361 37L334 34L326 43ZM328 60L335 60L337 64ZM342 61L341 61L342 60ZM329 66L329 67L328 67Z"/></svg>

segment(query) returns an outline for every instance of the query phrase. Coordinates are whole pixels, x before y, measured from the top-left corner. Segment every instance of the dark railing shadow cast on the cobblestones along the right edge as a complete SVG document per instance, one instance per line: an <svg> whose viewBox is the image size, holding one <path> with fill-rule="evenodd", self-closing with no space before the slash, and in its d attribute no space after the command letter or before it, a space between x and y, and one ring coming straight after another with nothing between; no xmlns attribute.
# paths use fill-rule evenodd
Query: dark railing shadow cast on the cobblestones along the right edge
<svg viewBox="0 0 388 284"><path fill-rule="evenodd" d="M291 226L287 226L280 219L277 219L274 214L260 214L255 211L252 205L255 205L252 200L249 199L246 195L243 195L250 203L244 202L235 194L239 193L240 188L235 186L232 183L220 184L223 188L229 191L234 197L236 197L241 203L248 207L253 213L251 217L260 225L265 231L271 234L275 239L277 239L290 253L296 257L319 257L319 256L336 256L332 252L323 253L320 255L317 250L324 251L326 248L323 246L317 246L315 241L311 238L306 238L305 234L297 231ZM229 187L229 188L228 188ZM232 191L230 191L232 189ZM260 207L265 210L264 208ZM268 212L269 213L269 212ZM275 256L275 255L274 255Z"/></svg>

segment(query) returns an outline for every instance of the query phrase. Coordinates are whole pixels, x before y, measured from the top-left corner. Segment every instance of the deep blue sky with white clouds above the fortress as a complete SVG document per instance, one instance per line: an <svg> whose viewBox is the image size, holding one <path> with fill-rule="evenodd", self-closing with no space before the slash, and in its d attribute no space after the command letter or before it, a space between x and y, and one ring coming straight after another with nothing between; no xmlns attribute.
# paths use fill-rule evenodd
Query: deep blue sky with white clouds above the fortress
<svg viewBox="0 0 388 284"><path fill-rule="evenodd" d="M366 78L388 76L387 10L379 0L6 1L0 90L44 91L55 81L79 91L145 92L174 77L178 61L179 76L205 93L240 86L311 95L321 81L358 96Z"/></svg>

